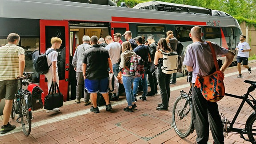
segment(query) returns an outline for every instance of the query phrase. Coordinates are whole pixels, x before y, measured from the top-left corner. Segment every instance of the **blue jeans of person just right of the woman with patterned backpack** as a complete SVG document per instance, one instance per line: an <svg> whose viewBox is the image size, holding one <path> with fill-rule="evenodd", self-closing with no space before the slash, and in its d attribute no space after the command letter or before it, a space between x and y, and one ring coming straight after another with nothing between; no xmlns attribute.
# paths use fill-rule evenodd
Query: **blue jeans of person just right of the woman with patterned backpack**
<svg viewBox="0 0 256 144"><path fill-rule="evenodd" d="M148 81L147 81L147 75L146 73L144 73L144 78L142 79L142 85L143 85L143 94L142 96L146 96L147 92L148 92ZM136 97L137 91L138 91L138 85L139 85L139 81L141 79L142 76L140 77L136 77L134 79L133 82L133 95Z"/></svg>

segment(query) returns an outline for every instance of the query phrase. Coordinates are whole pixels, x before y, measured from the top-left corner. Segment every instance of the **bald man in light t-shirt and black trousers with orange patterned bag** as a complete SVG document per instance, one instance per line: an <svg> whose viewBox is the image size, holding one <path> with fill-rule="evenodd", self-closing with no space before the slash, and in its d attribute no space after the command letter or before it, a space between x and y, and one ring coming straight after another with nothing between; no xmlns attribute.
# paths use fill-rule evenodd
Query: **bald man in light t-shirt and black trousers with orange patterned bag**
<svg viewBox="0 0 256 144"><path fill-rule="evenodd" d="M204 99L199 88L194 87L196 77L207 76L215 68L212 59L212 51L208 43L203 41L202 29L193 27L189 33L193 43L188 45L183 64L192 72L192 119L196 129L197 144L207 144L209 139L209 127L215 144L224 144L223 125L221 122L218 104ZM216 54L226 56L220 71L224 72L232 63L235 54L226 48L212 42Z"/></svg>

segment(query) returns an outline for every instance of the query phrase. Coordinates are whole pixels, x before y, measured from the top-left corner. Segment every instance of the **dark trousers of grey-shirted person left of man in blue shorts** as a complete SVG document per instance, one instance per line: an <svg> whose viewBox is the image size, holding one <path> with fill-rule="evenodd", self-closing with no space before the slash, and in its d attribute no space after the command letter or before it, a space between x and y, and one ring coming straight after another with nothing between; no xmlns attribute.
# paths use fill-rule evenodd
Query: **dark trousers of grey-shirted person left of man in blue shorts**
<svg viewBox="0 0 256 144"><path fill-rule="evenodd" d="M88 102L90 100L90 93L84 92L84 76L83 72L76 72L76 99L80 100L81 97L84 95L84 102Z"/></svg>

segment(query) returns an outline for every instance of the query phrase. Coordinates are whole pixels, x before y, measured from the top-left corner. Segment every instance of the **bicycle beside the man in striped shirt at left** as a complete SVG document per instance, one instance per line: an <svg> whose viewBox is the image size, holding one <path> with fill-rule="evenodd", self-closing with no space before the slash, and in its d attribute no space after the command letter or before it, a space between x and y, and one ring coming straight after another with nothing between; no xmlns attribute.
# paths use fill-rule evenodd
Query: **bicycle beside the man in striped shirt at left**
<svg viewBox="0 0 256 144"><path fill-rule="evenodd" d="M26 76L18 78L20 80L19 90L15 94L15 99L12 103L12 119L18 114L16 122L22 125L23 132L28 136L31 132L31 120L32 120L32 104L31 104L31 92L27 89L23 89L22 85L28 85L28 79ZM20 121L21 119L21 121Z"/></svg>

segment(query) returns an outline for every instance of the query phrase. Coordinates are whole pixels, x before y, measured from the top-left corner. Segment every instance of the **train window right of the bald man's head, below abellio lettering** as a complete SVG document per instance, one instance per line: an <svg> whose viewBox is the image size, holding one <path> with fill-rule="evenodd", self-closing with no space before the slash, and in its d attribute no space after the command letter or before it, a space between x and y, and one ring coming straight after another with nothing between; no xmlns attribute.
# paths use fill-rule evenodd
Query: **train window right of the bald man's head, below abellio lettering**
<svg viewBox="0 0 256 144"><path fill-rule="evenodd" d="M220 45L220 28L204 27L204 40L209 40Z"/></svg>

